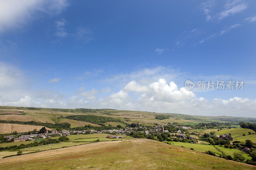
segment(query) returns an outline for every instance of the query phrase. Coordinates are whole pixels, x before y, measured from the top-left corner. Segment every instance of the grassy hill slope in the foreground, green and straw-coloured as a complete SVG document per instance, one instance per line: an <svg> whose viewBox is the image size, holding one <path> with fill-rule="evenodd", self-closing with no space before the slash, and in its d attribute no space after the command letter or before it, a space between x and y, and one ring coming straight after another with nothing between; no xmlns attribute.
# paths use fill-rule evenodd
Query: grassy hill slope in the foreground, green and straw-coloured
<svg viewBox="0 0 256 170"><path fill-rule="evenodd" d="M254 169L153 140L91 143L0 159L1 169Z"/></svg>

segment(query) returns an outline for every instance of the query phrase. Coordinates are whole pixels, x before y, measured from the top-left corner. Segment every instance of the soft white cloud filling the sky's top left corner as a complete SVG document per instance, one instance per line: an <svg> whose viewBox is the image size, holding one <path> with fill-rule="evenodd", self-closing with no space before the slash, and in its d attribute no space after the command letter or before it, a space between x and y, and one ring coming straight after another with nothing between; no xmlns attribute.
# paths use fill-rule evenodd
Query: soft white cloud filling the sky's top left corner
<svg viewBox="0 0 256 170"><path fill-rule="evenodd" d="M0 32L22 28L33 19L56 15L68 6L66 0L2 0L0 1Z"/></svg>

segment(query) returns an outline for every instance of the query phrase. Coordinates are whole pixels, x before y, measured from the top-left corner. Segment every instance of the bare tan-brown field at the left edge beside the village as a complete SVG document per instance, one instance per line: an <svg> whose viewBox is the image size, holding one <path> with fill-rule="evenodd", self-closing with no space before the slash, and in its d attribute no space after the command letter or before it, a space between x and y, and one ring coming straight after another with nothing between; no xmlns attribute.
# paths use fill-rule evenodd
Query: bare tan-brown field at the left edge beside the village
<svg viewBox="0 0 256 170"><path fill-rule="evenodd" d="M0 123L0 134L12 133L13 131L20 132L28 132L33 131L34 129L40 130L43 126L34 126L34 125L19 125L12 123ZM47 130L52 130L50 128L46 128Z"/></svg>

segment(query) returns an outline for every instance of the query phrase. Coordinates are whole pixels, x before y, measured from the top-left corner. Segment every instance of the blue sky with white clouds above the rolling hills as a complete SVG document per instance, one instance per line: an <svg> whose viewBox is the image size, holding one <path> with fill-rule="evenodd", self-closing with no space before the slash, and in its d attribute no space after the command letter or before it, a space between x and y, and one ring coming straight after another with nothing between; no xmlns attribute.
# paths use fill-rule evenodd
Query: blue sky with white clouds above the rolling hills
<svg viewBox="0 0 256 170"><path fill-rule="evenodd" d="M255 117L255 7L1 1L0 105ZM244 87L183 91L186 80Z"/></svg>

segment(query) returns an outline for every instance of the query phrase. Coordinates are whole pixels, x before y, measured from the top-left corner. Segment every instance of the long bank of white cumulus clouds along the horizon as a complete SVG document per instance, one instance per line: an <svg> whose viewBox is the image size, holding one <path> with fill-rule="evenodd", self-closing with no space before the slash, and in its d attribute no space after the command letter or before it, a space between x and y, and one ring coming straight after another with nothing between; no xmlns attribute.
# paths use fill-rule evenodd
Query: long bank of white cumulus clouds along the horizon
<svg viewBox="0 0 256 170"><path fill-rule="evenodd" d="M12 69L10 70L10 68ZM120 74L117 77L113 76L115 83L121 82L121 85L120 88L114 88L118 90L112 94L107 94L110 92L108 86L101 90L89 89L87 91L81 87L77 92L74 92L76 95L28 88L25 83L27 79L22 71L5 63L0 64L0 75L0 105L48 108L113 108L213 116L241 116L243 113L243 116L255 117L255 99L235 96L229 99L207 100L200 95L197 96L196 91L187 91L183 87L184 84L181 86L177 84L180 77L183 76L184 78L182 73L176 73L170 68L161 66L141 69L129 74ZM232 79L232 76L199 76L199 78L224 80ZM126 83L123 83L125 81ZM255 84L255 80L251 81L251 84L253 83ZM112 86L110 87L112 88Z"/></svg>

